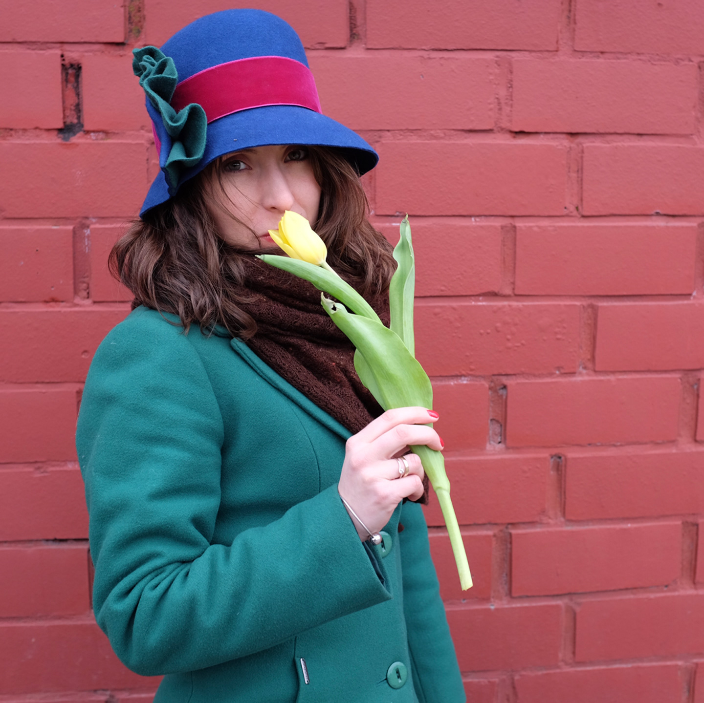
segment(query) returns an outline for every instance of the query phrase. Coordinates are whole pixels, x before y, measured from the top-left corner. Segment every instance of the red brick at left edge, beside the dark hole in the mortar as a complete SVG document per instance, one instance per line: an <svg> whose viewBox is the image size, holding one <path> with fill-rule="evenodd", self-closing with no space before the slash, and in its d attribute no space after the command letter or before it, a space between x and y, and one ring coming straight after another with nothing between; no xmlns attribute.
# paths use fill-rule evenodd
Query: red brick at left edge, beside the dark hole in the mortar
<svg viewBox="0 0 704 703"><path fill-rule="evenodd" d="M60 51L0 51L0 91L0 127L63 127Z"/></svg>

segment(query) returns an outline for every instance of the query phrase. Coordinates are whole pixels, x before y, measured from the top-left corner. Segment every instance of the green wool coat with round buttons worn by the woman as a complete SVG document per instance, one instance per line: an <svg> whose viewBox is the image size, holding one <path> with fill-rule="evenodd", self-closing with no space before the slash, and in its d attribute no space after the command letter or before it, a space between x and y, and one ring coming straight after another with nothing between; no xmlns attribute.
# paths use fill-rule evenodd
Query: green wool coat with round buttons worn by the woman
<svg viewBox="0 0 704 703"><path fill-rule="evenodd" d="M93 604L166 674L157 703L465 700L420 506L360 542L349 434L239 340L137 308L103 341L77 426Z"/></svg>

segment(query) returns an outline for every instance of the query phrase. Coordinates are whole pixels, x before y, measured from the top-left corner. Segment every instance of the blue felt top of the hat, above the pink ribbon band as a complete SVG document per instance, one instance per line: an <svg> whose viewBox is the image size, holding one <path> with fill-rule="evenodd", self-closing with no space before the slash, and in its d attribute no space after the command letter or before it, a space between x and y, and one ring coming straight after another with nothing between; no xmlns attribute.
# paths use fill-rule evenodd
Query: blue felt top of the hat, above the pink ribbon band
<svg viewBox="0 0 704 703"><path fill-rule="evenodd" d="M176 32L161 47L178 71L179 82L213 66L253 56L285 56L308 67L298 34L263 10L223 10Z"/></svg>

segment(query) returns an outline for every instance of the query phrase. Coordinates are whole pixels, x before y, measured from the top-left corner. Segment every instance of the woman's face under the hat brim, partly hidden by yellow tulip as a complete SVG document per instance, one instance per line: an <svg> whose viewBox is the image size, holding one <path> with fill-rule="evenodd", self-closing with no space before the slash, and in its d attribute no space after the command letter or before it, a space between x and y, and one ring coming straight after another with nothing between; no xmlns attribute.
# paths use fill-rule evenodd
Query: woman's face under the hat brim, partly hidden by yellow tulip
<svg viewBox="0 0 704 703"><path fill-rule="evenodd" d="M244 249L275 246L268 230L277 229L286 210L303 215L314 226L320 185L306 146L234 151L220 159L218 169L206 186L206 203L228 243Z"/></svg>

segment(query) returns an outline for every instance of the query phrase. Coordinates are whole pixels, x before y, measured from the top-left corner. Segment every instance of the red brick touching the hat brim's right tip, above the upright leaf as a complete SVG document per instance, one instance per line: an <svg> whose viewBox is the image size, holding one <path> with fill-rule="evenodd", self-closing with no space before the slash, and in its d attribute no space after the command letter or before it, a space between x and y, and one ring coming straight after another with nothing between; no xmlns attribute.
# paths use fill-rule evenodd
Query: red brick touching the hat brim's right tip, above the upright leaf
<svg viewBox="0 0 704 703"><path fill-rule="evenodd" d="M567 149L561 144L384 141L377 151L377 215L565 213Z"/></svg>

